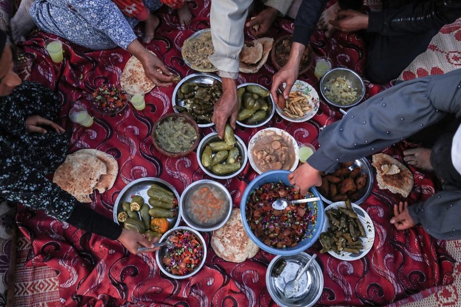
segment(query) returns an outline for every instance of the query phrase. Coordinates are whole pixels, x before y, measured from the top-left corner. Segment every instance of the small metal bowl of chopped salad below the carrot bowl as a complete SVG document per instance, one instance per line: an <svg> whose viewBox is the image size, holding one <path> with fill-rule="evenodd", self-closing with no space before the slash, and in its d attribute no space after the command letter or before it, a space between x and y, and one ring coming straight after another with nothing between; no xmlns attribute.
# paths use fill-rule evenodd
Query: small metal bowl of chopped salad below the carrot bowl
<svg viewBox="0 0 461 307"><path fill-rule="evenodd" d="M185 279L197 274L205 264L206 243L203 236L190 227L168 230L159 242L170 241L155 252L160 271L174 279Z"/></svg>

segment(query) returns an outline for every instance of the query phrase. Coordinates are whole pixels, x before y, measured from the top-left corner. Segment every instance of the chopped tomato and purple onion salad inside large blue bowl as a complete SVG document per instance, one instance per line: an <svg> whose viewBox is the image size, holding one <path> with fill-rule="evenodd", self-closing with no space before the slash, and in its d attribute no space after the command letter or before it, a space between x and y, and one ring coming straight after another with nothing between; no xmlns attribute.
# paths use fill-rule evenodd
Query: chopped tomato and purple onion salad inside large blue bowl
<svg viewBox="0 0 461 307"><path fill-rule="evenodd" d="M304 197L282 182L264 183L250 194L245 208L247 222L253 233L267 246L293 247L307 238L309 224L316 223L317 202L313 203L315 212L306 203L276 210L272 203L279 198L292 201Z"/></svg>

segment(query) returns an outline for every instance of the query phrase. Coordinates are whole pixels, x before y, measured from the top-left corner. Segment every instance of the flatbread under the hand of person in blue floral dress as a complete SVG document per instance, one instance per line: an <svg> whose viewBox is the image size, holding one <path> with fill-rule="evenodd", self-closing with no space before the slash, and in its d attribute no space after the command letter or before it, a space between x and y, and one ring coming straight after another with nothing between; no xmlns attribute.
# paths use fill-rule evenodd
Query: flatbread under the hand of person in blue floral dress
<svg viewBox="0 0 461 307"><path fill-rule="evenodd" d="M155 55L154 52L149 52ZM154 82L146 76L141 61L134 55L129 58L123 69L120 84L127 93L133 93L134 88L139 88L147 94L155 87Z"/></svg>

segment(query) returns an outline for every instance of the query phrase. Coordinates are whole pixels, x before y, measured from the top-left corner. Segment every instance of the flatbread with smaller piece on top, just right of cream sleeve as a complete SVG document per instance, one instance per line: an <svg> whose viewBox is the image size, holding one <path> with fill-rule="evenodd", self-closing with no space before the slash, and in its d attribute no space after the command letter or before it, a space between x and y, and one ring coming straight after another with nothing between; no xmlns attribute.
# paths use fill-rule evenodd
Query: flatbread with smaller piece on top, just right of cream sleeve
<svg viewBox="0 0 461 307"><path fill-rule="evenodd" d="M262 54L258 53L257 46L259 44L262 45ZM266 63L273 44L274 39L270 37L262 37L251 42L245 42L242 51L240 51L239 71L247 74L256 73ZM250 52L252 52L252 55L248 55Z"/></svg>

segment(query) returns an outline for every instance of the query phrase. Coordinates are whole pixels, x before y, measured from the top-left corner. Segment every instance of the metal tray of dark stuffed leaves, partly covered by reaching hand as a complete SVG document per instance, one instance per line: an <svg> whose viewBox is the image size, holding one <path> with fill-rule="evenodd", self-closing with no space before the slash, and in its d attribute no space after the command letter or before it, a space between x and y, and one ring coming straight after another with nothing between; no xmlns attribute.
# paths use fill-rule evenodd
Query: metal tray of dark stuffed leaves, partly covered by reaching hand
<svg viewBox="0 0 461 307"><path fill-rule="evenodd" d="M200 128L211 127L214 104L223 93L221 78L197 73L183 78L173 92L173 109L189 114Z"/></svg>

